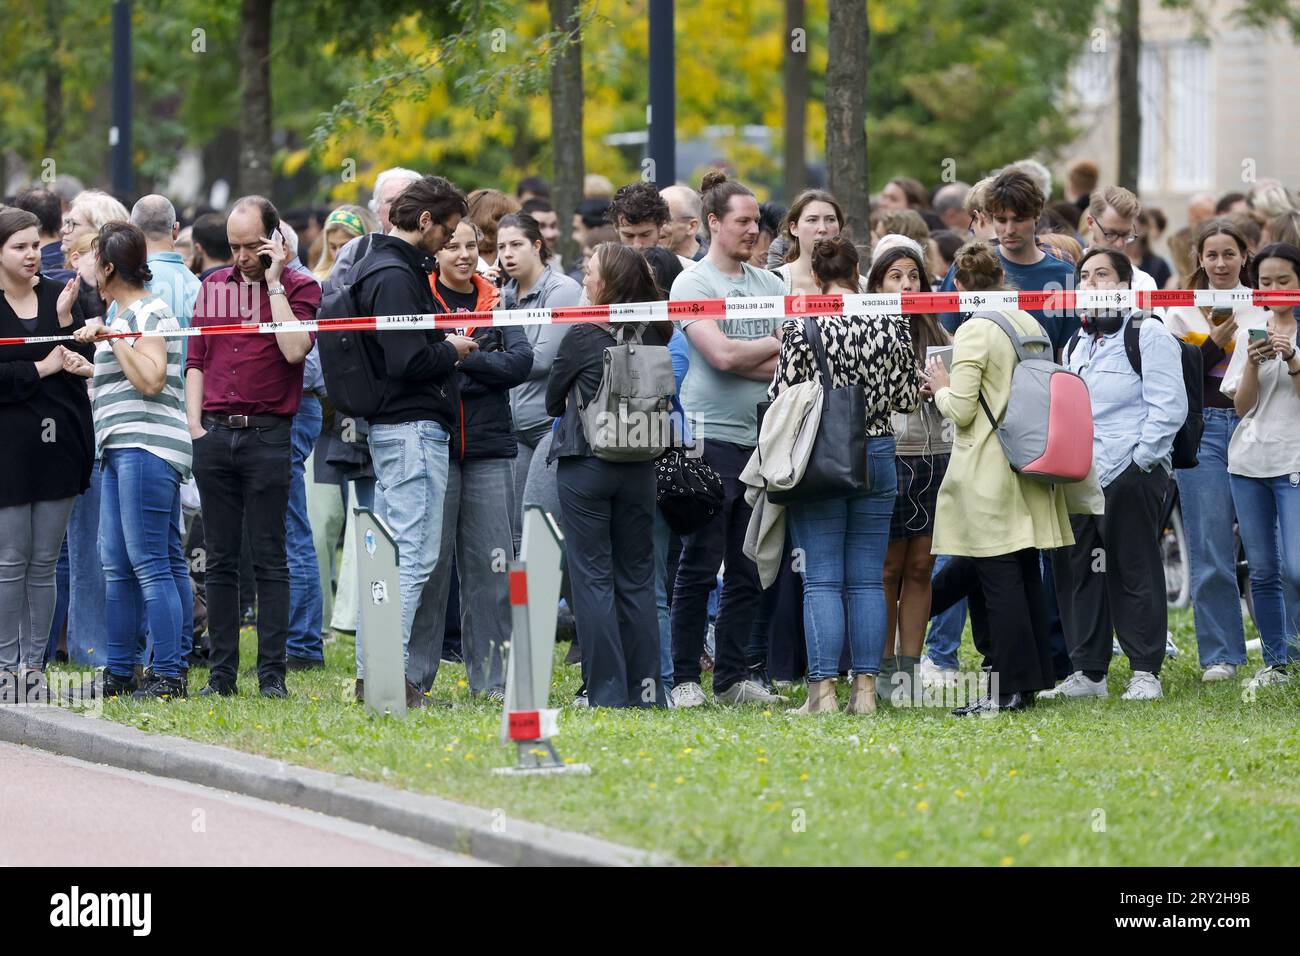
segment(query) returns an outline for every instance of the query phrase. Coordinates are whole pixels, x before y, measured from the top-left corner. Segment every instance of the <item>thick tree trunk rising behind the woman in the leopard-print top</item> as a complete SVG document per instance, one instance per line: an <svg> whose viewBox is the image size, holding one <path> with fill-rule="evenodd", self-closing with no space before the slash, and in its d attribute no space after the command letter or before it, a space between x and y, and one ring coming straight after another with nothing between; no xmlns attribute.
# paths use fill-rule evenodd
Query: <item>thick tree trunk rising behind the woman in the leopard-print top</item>
<svg viewBox="0 0 1300 956"><path fill-rule="evenodd" d="M867 4L829 0L826 70L827 185L844 209L854 243L867 242Z"/></svg>

